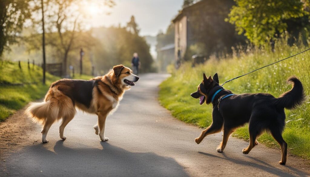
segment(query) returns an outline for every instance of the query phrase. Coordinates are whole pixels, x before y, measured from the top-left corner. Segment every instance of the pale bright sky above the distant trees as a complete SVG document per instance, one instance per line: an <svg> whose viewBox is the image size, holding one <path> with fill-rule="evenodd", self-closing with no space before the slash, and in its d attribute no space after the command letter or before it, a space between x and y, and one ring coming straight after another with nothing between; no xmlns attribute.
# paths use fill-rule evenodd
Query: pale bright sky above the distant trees
<svg viewBox="0 0 310 177"><path fill-rule="evenodd" d="M166 31L171 20L181 9L183 0L115 0L116 6L110 15L95 15L91 26L125 26L131 15L135 16L140 35L156 36L159 30Z"/></svg>

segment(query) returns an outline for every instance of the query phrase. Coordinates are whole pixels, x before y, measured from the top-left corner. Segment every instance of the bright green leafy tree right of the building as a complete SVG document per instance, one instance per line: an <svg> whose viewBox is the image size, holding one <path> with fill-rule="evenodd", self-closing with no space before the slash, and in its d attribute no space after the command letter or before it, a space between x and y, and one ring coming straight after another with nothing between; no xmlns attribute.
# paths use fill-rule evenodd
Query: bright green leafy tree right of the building
<svg viewBox="0 0 310 177"><path fill-rule="evenodd" d="M255 45L270 42L286 30L309 29L308 0L236 0L229 22ZM298 24L298 25L296 25Z"/></svg>

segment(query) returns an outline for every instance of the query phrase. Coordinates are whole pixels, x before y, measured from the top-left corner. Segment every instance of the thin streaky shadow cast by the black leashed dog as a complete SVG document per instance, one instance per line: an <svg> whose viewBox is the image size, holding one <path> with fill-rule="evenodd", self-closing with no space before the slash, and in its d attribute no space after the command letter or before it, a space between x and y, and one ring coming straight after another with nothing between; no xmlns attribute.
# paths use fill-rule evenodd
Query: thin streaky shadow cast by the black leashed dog
<svg viewBox="0 0 310 177"><path fill-rule="evenodd" d="M203 155L206 155L206 156L209 156L209 157L215 157L215 158L219 158L219 159L224 159L224 160L229 160L235 164L239 164L239 165L242 165L242 166L252 166L254 168L259 168L261 170L264 170L270 174L273 174L273 175L278 175L278 176L307 176L309 174L301 171L301 170L298 170L294 167L291 167L289 165L286 165L286 166L280 166L281 168L287 168L287 169L290 169L290 171L293 173L287 173L285 171L283 171L282 169L280 168L276 168L274 166L271 166L270 164L266 163L266 162L263 162L257 158L254 158L254 157L250 157L250 156L246 156L247 158L250 158L254 161L257 161L257 163L255 162L250 162L250 161L244 161L244 160L241 160L241 159L237 159L237 158L231 158L231 157L228 157L226 156L226 154L223 152L223 153L220 153L219 155L222 156L216 156L216 155L213 155L213 154L210 154L210 153L204 153L204 152L198 152L200 154L203 154Z"/></svg>

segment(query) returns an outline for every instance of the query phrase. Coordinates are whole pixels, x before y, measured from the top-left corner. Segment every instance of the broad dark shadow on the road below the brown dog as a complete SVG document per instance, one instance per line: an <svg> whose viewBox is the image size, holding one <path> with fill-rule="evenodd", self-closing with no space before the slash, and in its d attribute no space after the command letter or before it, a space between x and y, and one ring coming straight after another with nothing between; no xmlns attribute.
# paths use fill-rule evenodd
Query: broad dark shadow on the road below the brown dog
<svg viewBox="0 0 310 177"><path fill-rule="evenodd" d="M18 160L10 163L30 176L188 176L173 158L100 144L102 148L85 144L67 147L63 140L54 146L37 144L25 147L22 154L16 154Z"/></svg>

